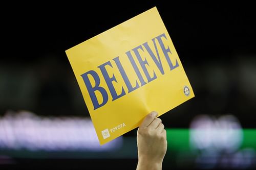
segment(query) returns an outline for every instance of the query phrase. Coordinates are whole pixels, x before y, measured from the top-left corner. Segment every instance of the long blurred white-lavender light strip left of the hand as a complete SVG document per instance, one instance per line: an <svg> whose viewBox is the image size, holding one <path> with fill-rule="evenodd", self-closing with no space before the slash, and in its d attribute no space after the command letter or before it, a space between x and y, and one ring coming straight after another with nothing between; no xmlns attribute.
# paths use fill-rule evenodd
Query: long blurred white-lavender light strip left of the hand
<svg viewBox="0 0 256 170"><path fill-rule="evenodd" d="M0 149L31 151L108 151L122 136L100 146L90 118L39 117L27 111L0 117Z"/></svg>

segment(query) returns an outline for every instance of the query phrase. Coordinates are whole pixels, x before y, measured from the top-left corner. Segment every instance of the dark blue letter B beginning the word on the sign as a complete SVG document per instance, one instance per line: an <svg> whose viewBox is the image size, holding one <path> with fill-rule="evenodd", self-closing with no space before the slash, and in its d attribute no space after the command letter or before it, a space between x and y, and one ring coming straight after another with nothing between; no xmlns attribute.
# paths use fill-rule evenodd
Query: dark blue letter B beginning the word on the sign
<svg viewBox="0 0 256 170"><path fill-rule="evenodd" d="M89 80L89 77L88 77L89 74L93 77L93 79L95 81L95 87L92 86L92 84ZM82 77L84 83L86 84L87 90L89 92L89 95L91 97L91 100L92 100L92 103L93 103L93 106L94 106L94 110L98 109L99 107L101 107L103 105L105 105L106 102L108 102L108 100L109 100L109 96L108 96L108 93L106 92L106 90L103 87L99 86L100 79L99 79L99 76L98 76L97 72L94 71L94 70L90 70L90 71L82 74L81 77ZM102 101L101 104L99 104L99 102L97 100L97 97L96 97L96 94L95 94L96 90L98 90L102 95L103 101Z"/></svg>

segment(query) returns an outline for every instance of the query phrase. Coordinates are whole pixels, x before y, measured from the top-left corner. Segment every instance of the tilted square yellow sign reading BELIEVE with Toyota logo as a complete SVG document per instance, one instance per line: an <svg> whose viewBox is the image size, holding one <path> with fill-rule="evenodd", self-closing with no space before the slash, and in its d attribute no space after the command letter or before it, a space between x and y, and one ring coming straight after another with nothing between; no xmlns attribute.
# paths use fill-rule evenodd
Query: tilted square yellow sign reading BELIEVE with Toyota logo
<svg viewBox="0 0 256 170"><path fill-rule="evenodd" d="M195 96L156 7L66 54L101 145Z"/></svg>

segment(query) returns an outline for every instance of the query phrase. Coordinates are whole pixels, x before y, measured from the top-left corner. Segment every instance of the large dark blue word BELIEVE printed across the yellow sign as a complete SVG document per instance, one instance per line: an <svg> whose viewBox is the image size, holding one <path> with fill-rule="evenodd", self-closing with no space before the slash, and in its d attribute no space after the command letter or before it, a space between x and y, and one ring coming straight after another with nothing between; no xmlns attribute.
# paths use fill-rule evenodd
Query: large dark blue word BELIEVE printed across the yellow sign
<svg viewBox="0 0 256 170"><path fill-rule="evenodd" d="M155 73L155 70L153 70L152 72L152 76L150 76L149 72L148 72L148 67L150 67L150 65L148 64L147 62L147 59L146 57L142 57L141 56L141 51L142 52L145 52L143 50L143 46L145 47L147 53L151 56L151 58L153 59L153 61L155 62L156 66L158 67L159 71L161 72L162 75L165 74L164 72L164 68L163 68L163 65L162 65L162 61L161 61L161 58L160 58L160 55L159 55L159 51L158 51L158 48L157 48L157 45L156 45L156 39L157 41L159 42L159 45L163 51L163 54L164 54L164 57L169 65L169 68L170 70L173 70L175 69L176 67L179 66L179 63L178 63L178 60L177 58L175 59L175 65L173 65L172 61L170 60L170 57L169 57L169 54L172 55L172 52L170 51L170 48L169 46L167 45L166 47L164 46L164 43L163 43L163 38L166 38L165 34L161 34L155 38L152 39L153 43L154 43L154 47L155 47L155 50L156 50L156 53L154 54L152 49L154 48L151 48L147 42L143 43L142 45L139 45L135 48L133 48L131 51L127 51L125 54L126 56L128 57L128 59L130 60L132 66L133 66L133 69L137 75L137 77L135 78L135 80L133 80L133 82L135 83L134 86L132 86L131 84L131 81L129 80L129 78L127 77L127 74L119 60L119 57L116 57L113 59L113 61L115 62L121 76L122 76L122 79L128 89L128 93L138 89L139 87L143 86L146 84L146 82L144 81L142 75L141 75L141 72L138 68L138 66L136 65L135 63L135 60L131 54L131 52L133 51L135 56L137 57L137 60L146 76L146 79L147 79L147 83L148 82L151 82L155 79L157 79L157 75ZM141 50L141 51L139 51ZM140 53L139 53L140 52ZM169 53L169 54L168 54ZM106 70L106 66L110 66L111 68L113 68L112 64L110 61L108 62L105 62L104 64L101 64L98 66L98 68L100 69L102 75L103 75L103 78L106 82L106 85L108 86L109 90L110 90L110 93L112 95L112 101L114 100L117 100L119 99L121 96L125 95L125 91L124 91L124 88L123 86L121 86L121 93L120 94L117 94L115 88L114 88L114 85L113 85L113 82L117 82L116 78L115 78L115 75L112 74L112 77L109 76L108 74L108 71ZM91 83L90 80L89 80L89 75L93 78L94 82L95 82L95 86L93 86L92 84L94 83ZM84 84L86 85L87 87L87 90L89 92L89 95L90 95L90 98L92 100L92 103L93 103L93 107L94 107L94 110L95 109L98 109L99 107L102 107L104 106L108 100L109 100L109 96L108 96L108 93L107 91L105 90L105 88L101 87L100 86L100 78L99 78L99 75L97 74L96 71L94 70L90 70L84 74L81 75L83 81L84 81ZM132 76L132 77L135 77L135 76ZM140 84L140 85L139 85ZM100 94L102 95L102 103L99 103L98 99L97 99L97 96L96 96L96 91L100 92Z"/></svg>

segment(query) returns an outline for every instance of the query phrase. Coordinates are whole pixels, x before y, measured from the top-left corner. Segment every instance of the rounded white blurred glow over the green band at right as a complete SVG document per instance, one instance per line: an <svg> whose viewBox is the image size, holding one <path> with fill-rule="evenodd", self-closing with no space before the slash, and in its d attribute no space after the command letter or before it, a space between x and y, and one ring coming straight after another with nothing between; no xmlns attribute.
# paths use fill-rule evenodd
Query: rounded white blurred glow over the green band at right
<svg viewBox="0 0 256 170"><path fill-rule="evenodd" d="M196 116L190 124L192 148L216 152L237 151L243 142L243 130L237 117L224 114Z"/></svg>

